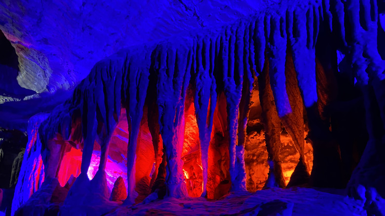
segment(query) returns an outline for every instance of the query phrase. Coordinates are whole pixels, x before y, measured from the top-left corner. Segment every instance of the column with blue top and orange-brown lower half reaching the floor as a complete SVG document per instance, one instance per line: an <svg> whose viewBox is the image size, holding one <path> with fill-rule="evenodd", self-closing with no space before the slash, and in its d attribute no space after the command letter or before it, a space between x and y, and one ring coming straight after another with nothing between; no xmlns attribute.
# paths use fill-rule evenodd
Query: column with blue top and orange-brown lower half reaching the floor
<svg viewBox="0 0 385 216"><path fill-rule="evenodd" d="M260 99L265 126L266 144L269 153L269 177L265 187L285 187L279 155L281 134L280 118L291 113L286 91L286 28L285 18L279 14L265 17L267 58L260 75Z"/></svg>

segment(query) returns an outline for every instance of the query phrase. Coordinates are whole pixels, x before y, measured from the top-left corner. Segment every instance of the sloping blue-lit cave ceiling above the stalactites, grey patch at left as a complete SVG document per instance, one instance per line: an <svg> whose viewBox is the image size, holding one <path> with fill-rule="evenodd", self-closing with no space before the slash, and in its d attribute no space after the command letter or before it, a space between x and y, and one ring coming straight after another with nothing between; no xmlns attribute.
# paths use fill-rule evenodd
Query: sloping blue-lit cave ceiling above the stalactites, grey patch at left
<svg viewBox="0 0 385 216"><path fill-rule="evenodd" d="M11 84L8 89L20 91L1 95L0 101L28 102L0 108L15 114L9 106L37 106L44 98L57 105L64 100L52 97L55 92L73 89L96 62L122 47L222 26L268 6L265 0L1 1L0 30L12 43L20 63L19 69L6 69L11 74L1 79L1 86ZM26 128L28 118L39 111L41 108L32 113L20 110L14 116L20 121L17 126ZM1 124L15 127L14 121Z"/></svg>

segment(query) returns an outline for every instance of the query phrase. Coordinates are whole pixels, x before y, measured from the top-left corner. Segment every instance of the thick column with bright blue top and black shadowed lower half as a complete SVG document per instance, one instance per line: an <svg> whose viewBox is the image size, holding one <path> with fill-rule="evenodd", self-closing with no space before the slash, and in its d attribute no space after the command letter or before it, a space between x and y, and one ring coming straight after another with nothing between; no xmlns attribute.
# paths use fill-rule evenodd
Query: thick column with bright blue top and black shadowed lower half
<svg viewBox="0 0 385 216"><path fill-rule="evenodd" d="M308 138L313 146L310 183L314 186L340 187L342 164L338 143L331 136L329 124L322 121L317 104L319 83L316 82L315 44L319 29L319 10L313 6L297 8L288 15L287 23L293 64L308 116Z"/></svg>

